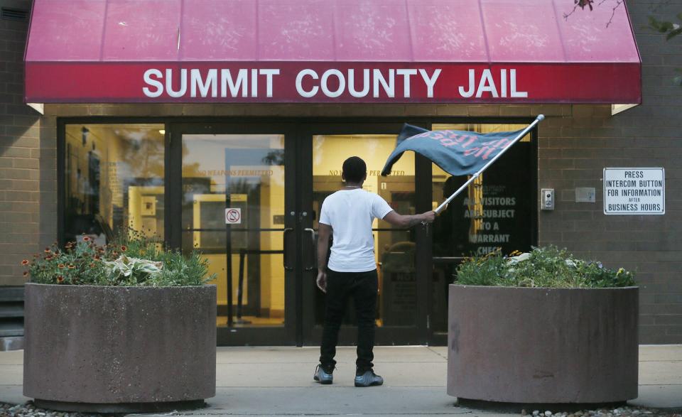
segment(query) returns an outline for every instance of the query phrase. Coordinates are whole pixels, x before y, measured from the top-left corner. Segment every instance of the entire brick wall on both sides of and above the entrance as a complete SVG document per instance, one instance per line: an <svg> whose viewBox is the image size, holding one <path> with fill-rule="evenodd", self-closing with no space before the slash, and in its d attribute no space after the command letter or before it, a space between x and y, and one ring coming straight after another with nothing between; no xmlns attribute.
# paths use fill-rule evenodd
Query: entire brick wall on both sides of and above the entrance
<svg viewBox="0 0 682 417"><path fill-rule="evenodd" d="M1 1L1 0L0 0ZM28 1L20 1L24 6ZM656 10L658 4L664 4ZM26 23L0 23L0 285L21 283L18 261L56 237L55 119L72 116L262 117L531 117L539 129L539 187L555 188L553 212L539 215L540 244L568 247L607 266L637 271L645 343L682 342L682 39L666 43L642 28L656 12L673 18L682 0L628 3L643 60L642 106L610 116L610 106L450 105L50 105L38 114L22 104ZM588 77L589 75L585 75ZM666 168L666 215L605 216L602 169ZM594 187L597 202L576 203L576 187Z"/></svg>

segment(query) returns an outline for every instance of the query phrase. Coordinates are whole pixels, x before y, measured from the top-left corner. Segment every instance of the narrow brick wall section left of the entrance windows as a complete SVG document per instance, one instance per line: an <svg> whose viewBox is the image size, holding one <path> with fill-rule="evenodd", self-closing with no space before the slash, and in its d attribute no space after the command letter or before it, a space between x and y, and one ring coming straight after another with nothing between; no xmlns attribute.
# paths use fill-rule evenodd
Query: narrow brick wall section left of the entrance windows
<svg viewBox="0 0 682 417"><path fill-rule="evenodd" d="M31 1L0 5L28 10ZM0 285L23 283L21 259L56 232L55 124L23 104L27 33L28 20L0 19Z"/></svg>

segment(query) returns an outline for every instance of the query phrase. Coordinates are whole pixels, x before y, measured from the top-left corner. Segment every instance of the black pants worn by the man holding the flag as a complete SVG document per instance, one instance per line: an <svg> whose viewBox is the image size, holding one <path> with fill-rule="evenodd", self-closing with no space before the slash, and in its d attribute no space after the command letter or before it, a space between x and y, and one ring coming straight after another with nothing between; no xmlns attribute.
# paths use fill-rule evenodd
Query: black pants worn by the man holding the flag
<svg viewBox="0 0 682 417"><path fill-rule="evenodd" d="M335 366L336 344L348 298L352 296L357 315L357 372L364 373L374 364L374 316L377 310L379 280L377 270L368 272L336 272L327 270L327 309L320 347L320 364Z"/></svg>

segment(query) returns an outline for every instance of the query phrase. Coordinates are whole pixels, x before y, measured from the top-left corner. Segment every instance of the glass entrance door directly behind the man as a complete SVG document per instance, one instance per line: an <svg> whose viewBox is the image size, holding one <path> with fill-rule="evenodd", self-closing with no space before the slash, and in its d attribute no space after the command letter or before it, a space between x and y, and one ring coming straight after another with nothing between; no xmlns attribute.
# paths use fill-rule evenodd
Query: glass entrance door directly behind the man
<svg viewBox="0 0 682 417"><path fill-rule="evenodd" d="M396 212L414 214L429 210L423 207L429 202L420 202L416 191L418 172L414 153L406 153L388 177L379 175L386 156L396 146L396 132L400 127L393 124L307 126L308 131L301 137L303 161L310 161L310 165L303 166L308 174L304 175L302 187L303 207L310 213L303 222L312 234L308 239L310 249L303 254L306 264L315 264L314 237L320 207L325 197L343 187L342 163L350 156L359 156L367 163L363 188L384 197ZM423 239L421 227L399 229L383 220L374 220L372 232L379 276L377 343L418 343L426 329L421 301L424 276L419 273L422 265L417 256L418 242ZM306 242L303 243L305 246ZM316 275L316 266L303 275L303 340L311 345L319 343L325 315L325 294L315 286ZM347 326L340 333L341 344L352 344L356 340L353 310L349 303L344 319Z"/></svg>

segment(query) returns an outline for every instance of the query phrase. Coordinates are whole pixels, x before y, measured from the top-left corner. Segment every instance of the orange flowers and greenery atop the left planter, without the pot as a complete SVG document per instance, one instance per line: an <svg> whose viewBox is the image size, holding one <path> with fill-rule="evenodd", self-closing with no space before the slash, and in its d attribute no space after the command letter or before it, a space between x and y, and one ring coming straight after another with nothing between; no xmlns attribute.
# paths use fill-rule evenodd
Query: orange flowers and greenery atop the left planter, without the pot
<svg viewBox="0 0 682 417"><path fill-rule="evenodd" d="M163 249L158 239L126 231L99 246L90 237L45 248L21 264L34 283L94 286L200 286L215 279L199 252L183 256Z"/></svg>

